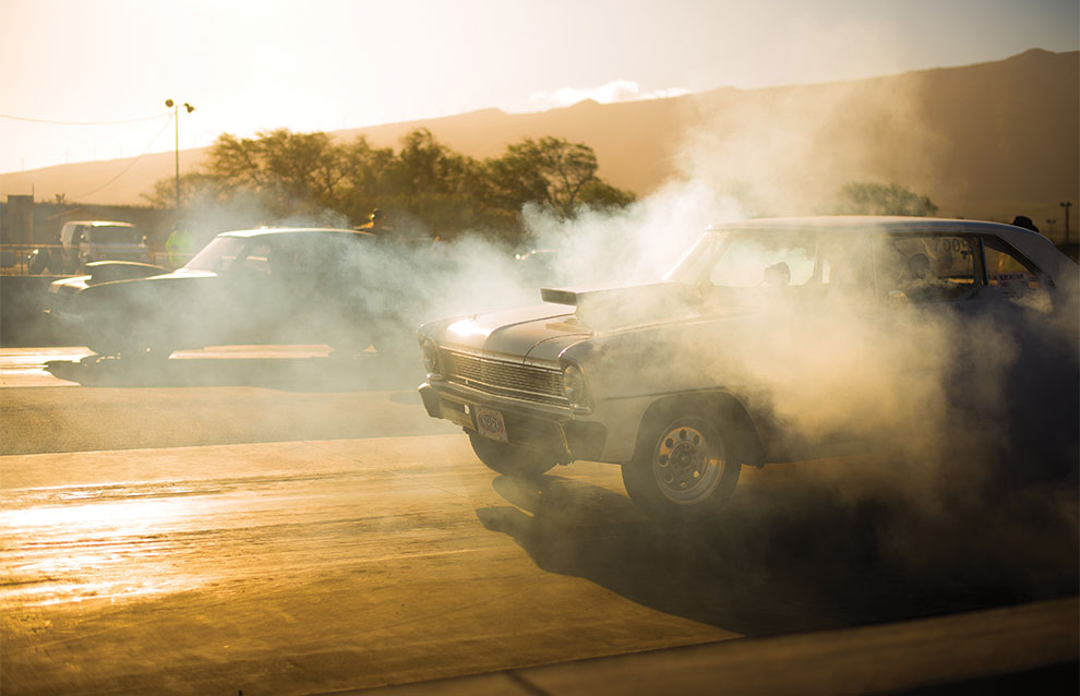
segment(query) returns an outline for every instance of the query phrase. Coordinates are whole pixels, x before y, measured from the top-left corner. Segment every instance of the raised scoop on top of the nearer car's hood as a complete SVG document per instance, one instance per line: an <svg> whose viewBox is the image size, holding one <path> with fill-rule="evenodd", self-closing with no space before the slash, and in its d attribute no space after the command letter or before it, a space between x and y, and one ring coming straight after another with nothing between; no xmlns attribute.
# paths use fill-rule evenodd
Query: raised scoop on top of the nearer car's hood
<svg viewBox="0 0 1080 696"><path fill-rule="evenodd" d="M652 324L685 316L691 309L674 283L615 288L542 288L544 302L576 308L578 321L596 329Z"/></svg>

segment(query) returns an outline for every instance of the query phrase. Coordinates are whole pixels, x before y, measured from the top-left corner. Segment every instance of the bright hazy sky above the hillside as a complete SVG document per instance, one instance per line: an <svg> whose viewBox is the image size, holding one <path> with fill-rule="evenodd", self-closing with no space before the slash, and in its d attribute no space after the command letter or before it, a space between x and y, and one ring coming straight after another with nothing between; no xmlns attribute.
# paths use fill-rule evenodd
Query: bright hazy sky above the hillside
<svg viewBox="0 0 1080 696"><path fill-rule="evenodd" d="M332 131L1070 51L1080 48L1078 8L1080 0L0 0L0 172L171 151L167 98L196 108L180 117L180 147L189 148L223 132Z"/></svg>

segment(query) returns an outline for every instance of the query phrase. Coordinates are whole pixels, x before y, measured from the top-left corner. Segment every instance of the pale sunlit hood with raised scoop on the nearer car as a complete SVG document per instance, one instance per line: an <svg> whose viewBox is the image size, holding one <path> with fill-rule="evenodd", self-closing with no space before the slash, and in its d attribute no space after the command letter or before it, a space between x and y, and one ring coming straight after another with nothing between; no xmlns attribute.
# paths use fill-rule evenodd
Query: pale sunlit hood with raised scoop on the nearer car
<svg viewBox="0 0 1080 696"><path fill-rule="evenodd" d="M421 327L447 348L503 359L554 362L592 336L695 316L683 288L673 284L541 290L548 304L478 314ZM434 331L432 331L434 329Z"/></svg>

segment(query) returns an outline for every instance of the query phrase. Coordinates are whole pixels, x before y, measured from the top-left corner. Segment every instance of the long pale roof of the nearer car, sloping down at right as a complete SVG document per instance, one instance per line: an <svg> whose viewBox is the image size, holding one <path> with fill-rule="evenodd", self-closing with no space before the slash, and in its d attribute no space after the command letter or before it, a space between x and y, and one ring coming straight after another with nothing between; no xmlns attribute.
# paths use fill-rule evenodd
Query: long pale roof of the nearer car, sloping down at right
<svg viewBox="0 0 1080 696"><path fill-rule="evenodd" d="M1049 239L1023 227L985 220L960 220L943 217L905 217L887 215L821 215L816 217L769 217L733 220L712 225L711 231L828 231L857 235L885 232L888 235L967 233L998 237L1057 280L1073 280L1080 274L1071 259L1063 254Z"/></svg>

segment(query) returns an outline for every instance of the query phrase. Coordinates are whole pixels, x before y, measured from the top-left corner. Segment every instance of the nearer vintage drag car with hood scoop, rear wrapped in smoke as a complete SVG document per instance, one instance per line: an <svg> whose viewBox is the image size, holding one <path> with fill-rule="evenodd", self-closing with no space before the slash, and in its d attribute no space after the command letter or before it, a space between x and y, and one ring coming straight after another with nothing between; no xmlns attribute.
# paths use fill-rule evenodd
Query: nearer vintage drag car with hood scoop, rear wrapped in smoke
<svg viewBox="0 0 1080 696"><path fill-rule="evenodd" d="M993 346L963 334L969 322L1037 325L1075 299L1077 280L1048 240L1010 225L718 225L661 283L548 288L543 305L424 324L420 395L495 471L613 463L649 512L709 515L743 465L865 446L878 411L920 404L916 386L933 394L934 380L953 379L929 334L905 329L956 325L957 345L977 357ZM960 392L982 397L981 386Z"/></svg>

